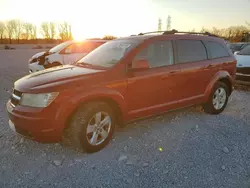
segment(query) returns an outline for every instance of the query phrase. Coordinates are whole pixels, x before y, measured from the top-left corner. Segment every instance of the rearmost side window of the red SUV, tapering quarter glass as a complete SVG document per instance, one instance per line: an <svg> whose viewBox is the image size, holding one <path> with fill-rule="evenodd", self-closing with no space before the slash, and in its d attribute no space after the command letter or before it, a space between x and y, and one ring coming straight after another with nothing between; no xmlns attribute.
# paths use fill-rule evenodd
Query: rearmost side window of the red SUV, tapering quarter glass
<svg viewBox="0 0 250 188"><path fill-rule="evenodd" d="M227 49L225 49L220 43L206 41L205 44L212 59L229 56Z"/></svg>

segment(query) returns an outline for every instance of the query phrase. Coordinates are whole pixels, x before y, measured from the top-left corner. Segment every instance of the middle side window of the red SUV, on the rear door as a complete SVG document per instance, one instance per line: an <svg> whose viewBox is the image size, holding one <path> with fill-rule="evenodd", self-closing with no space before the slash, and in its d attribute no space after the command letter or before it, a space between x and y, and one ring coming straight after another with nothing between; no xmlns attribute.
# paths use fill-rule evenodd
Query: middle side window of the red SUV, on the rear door
<svg viewBox="0 0 250 188"><path fill-rule="evenodd" d="M179 63L202 61L207 59L207 52L200 40L176 40Z"/></svg>

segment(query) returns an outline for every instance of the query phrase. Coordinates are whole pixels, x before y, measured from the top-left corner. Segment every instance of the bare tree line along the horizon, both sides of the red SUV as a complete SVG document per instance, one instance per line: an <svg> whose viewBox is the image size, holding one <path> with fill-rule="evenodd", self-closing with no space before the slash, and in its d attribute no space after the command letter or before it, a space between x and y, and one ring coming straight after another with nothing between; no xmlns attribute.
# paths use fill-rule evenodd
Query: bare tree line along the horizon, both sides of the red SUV
<svg viewBox="0 0 250 188"><path fill-rule="evenodd" d="M161 19L158 20L158 30L162 28ZM192 31L195 31L193 29ZM212 29L202 28L200 32L210 32L218 35L230 42L250 41L250 23L245 25L231 26L228 28ZM38 37L41 36L41 37ZM103 39L112 40L116 37L106 35ZM43 22L40 26L32 23L23 22L18 19L0 21L0 44L11 43L57 43L58 40L72 40L71 25L67 22Z"/></svg>

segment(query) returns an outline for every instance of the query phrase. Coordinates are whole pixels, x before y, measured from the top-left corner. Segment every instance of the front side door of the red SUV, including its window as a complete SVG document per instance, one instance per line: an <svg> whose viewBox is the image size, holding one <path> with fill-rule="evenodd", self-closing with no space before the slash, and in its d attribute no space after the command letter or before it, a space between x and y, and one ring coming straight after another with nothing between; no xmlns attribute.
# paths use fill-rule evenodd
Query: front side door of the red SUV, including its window
<svg viewBox="0 0 250 188"><path fill-rule="evenodd" d="M174 64L172 41L155 41L142 49L134 61L146 59L149 69L128 76L128 110L131 118L164 111L178 102L176 77L180 69Z"/></svg>

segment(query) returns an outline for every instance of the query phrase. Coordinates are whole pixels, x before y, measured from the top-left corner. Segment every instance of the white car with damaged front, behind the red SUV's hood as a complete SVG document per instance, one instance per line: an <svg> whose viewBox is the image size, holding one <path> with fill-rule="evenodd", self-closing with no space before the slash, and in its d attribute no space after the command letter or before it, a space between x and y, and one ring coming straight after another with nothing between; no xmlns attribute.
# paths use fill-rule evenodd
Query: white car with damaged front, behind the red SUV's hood
<svg viewBox="0 0 250 188"><path fill-rule="evenodd" d="M66 41L48 51L39 52L29 59L29 72L37 72L50 67L72 64L104 44L106 40Z"/></svg>

